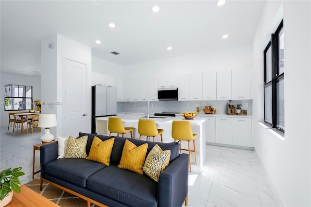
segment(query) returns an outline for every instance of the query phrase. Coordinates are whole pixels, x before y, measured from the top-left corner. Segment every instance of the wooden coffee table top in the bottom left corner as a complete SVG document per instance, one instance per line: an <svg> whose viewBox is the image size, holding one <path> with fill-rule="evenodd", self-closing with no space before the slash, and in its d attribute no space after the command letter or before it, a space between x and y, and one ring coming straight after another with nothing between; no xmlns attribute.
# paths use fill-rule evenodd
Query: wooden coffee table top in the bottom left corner
<svg viewBox="0 0 311 207"><path fill-rule="evenodd" d="M6 207L59 207L52 201L26 186L20 186L20 193L13 191L12 201Z"/></svg>

